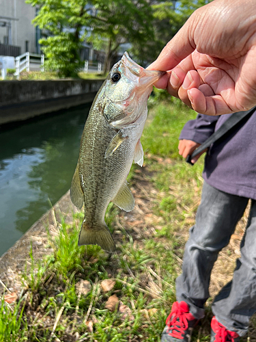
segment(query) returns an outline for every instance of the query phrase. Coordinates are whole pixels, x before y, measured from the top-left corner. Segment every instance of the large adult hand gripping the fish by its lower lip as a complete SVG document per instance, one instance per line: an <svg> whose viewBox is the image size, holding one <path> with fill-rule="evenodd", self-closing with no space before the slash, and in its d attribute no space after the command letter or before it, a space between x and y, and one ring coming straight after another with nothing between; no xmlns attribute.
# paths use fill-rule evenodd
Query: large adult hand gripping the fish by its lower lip
<svg viewBox="0 0 256 342"><path fill-rule="evenodd" d="M201 114L256 105L254 0L214 0L196 10L148 68L170 70L157 83Z"/></svg>

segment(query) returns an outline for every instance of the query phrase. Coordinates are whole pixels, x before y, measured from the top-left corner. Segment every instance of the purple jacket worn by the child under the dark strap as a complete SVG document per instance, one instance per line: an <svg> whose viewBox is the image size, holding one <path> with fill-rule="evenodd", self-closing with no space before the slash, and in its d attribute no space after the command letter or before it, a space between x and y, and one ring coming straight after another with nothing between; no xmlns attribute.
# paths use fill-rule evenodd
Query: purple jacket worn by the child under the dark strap
<svg viewBox="0 0 256 342"><path fill-rule="evenodd" d="M202 144L232 114L207 116L198 114L186 122L180 140ZM205 155L203 179L228 194L256 200L256 111L243 120L231 134L214 142Z"/></svg>

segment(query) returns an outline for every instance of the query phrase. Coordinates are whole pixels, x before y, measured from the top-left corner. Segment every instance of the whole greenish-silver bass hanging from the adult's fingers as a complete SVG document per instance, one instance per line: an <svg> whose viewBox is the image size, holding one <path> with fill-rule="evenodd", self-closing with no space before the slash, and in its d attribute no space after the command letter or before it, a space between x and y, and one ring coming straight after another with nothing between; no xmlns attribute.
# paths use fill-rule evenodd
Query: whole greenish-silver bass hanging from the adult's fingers
<svg viewBox="0 0 256 342"><path fill-rule="evenodd" d="M85 218L79 246L97 244L113 252L115 241L104 221L112 201L132 211L134 198L126 178L132 162L143 165L141 134L153 83L165 72L146 70L127 52L111 69L94 98L81 137L70 198Z"/></svg>

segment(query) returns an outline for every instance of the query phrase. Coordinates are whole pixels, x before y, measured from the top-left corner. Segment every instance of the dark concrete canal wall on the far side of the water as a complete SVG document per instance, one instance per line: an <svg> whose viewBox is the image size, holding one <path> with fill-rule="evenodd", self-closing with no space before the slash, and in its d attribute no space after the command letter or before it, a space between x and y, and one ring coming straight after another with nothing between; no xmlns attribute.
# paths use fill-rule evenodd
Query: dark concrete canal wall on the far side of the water
<svg viewBox="0 0 256 342"><path fill-rule="evenodd" d="M0 124L90 103L103 80L0 81Z"/></svg>

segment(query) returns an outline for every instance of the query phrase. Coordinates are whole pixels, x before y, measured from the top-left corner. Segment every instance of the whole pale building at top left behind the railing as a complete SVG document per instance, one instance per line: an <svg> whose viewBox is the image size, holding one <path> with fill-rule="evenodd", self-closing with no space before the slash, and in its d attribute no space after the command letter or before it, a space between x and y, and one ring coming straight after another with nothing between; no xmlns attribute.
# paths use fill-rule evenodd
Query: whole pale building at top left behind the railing
<svg viewBox="0 0 256 342"><path fill-rule="evenodd" d="M35 14L25 0L0 0L0 55L40 53L40 30L31 23Z"/></svg>

